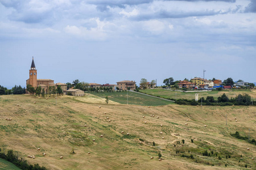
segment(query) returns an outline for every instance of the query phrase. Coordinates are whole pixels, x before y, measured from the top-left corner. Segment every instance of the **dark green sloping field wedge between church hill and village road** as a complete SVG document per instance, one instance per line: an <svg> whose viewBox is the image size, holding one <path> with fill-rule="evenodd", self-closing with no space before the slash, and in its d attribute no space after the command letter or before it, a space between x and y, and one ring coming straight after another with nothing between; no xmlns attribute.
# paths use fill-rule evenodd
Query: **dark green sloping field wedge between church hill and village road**
<svg viewBox="0 0 256 170"><path fill-rule="evenodd" d="M93 92L92 95L103 97L109 97L109 100L115 101L121 104L127 104L127 92ZM162 99L157 99L155 97L146 96L143 94L138 94L135 92L128 92L128 103L136 105L167 105L173 104L172 101L166 101Z"/></svg>

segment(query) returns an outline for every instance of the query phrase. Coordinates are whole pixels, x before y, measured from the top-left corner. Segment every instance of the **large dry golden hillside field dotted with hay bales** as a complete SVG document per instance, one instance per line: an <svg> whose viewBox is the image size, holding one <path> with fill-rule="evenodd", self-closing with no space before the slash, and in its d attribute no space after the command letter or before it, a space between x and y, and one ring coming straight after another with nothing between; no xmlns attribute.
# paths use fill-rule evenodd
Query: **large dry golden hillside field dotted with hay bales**
<svg viewBox="0 0 256 170"><path fill-rule="evenodd" d="M230 135L250 128L256 138L255 107L106 104L93 95L57 96L56 105L53 96L6 95L0 113L2 151L48 169L256 169L256 146Z"/></svg>

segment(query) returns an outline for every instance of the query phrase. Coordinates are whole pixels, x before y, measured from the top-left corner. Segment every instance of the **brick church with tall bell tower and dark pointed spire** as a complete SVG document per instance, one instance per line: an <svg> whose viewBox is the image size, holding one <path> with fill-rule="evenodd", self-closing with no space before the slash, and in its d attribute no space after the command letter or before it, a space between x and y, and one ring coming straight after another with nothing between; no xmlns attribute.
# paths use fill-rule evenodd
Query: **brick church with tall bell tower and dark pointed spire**
<svg viewBox="0 0 256 170"><path fill-rule="evenodd" d="M31 63L31 67L30 67L30 78L26 80L26 87L28 84L30 84L34 88L41 86L42 89L44 88L44 91L46 93L48 92L49 86L61 86L63 91L67 90L67 84L64 84L64 83L54 84L54 80L38 79L37 76L38 76L38 73L35 68L34 57L32 57L32 63ZM27 92L27 94L28 94L28 92Z"/></svg>

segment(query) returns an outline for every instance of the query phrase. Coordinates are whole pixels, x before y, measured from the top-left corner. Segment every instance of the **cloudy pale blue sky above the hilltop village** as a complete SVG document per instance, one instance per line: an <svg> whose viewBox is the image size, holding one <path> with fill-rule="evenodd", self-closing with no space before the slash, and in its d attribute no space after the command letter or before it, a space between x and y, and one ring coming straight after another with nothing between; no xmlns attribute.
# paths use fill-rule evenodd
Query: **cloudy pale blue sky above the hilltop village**
<svg viewBox="0 0 256 170"><path fill-rule="evenodd" d="M256 82L255 0L0 0L0 85Z"/></svg>

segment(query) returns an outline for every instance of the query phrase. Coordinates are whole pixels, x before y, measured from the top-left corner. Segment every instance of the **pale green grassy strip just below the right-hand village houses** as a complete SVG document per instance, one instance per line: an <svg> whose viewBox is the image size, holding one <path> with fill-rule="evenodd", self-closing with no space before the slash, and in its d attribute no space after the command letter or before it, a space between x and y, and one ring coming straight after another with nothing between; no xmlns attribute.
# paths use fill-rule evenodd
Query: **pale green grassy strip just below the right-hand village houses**
<svg viewBox="0 0 256 170"><path fill-rule="evenodd" d="M195 99L196 92L179 92L179 91L171 91L171 90L164 90L163 88L155 88L155 89L146 89L146 90L139 90L139 92L143 92L145 94L153 95L153 96L159 96L163 98L171 98L175 99L175 96L177 95L177 99ZM213 96L214 99L217 99L222 94L226 94L228 97L236 97L238 94L249 94L251 97L256 99L256 91L255 90L222 90L222 91L209 91L209 92L198 92L199 98L204 97L206 99L207 96Z"/></svg>

